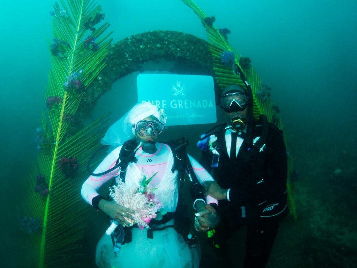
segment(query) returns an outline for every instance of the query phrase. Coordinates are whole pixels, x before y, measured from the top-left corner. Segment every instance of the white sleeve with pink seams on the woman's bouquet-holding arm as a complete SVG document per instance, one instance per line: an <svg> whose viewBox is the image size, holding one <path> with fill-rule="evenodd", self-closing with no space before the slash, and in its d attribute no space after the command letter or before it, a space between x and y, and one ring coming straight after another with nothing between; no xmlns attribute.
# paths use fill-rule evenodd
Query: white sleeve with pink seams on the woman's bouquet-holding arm
<svg viewBox="0 0 357 268"><path fill-rule="evenodd" d="M99 166L94 170L93 173L102 173L106 170L111 169L115 166L116 160L119 157L121 147L117 147L110 154L104 158L104 160L99 164ZM92 205L92 199L99 195L97 190L108 180L119 175L119 170L115 169L102 176L90 175L89 178L83 183L81 189L81 195L83 199L90 205Z"/></svg>

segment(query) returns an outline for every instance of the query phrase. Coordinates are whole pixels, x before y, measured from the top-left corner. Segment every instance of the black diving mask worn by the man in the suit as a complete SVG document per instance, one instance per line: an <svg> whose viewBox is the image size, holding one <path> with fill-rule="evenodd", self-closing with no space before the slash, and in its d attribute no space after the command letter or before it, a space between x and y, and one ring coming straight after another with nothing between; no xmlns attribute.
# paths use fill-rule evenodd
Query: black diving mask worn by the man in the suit
<svg viewBox="0 0 357 268"><path fill-rule="evenodd" d="M243 92L227 93L220 96L218 104L227 113L243 111L248 105L248 95Z"/></svg>

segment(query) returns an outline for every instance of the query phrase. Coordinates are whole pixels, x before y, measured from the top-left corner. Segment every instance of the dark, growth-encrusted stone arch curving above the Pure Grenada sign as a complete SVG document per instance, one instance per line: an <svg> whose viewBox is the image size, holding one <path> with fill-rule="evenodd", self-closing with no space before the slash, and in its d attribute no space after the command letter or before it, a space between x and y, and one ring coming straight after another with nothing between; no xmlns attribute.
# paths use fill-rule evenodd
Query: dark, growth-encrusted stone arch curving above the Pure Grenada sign
<svg viewBox="0 0 357 268"><path fill-rule="evenodd" d="M106 66L90 84L83 95L76 117L86 119L100 96L111 90L117 80L136 71L146 71L145 63L161 60L160 71L176 74L211 75L212 55L208 42L179 31L149 31L131 35L111 45L105 58Z"/></svg>

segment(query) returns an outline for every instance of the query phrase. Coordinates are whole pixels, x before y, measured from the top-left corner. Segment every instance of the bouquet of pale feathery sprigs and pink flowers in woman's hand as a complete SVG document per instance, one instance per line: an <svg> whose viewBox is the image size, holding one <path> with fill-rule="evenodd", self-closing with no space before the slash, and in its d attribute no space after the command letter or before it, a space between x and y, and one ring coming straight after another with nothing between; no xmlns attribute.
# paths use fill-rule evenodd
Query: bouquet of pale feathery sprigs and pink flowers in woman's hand
<svg viewBox="0 0 357 268"><path fill-rule="evenodd" d="M161 207L159 200L152 193L157 188L148 187L155 175L156 173L149 179L146 179L146 175L142 175L139 188L134 187L127 190L122 180L119 181L118 185L109 188L109 195L117 204L135 210L135 213L132 214L133 220L125 219L136 223L140 229L149 228L150 220L156 218L156 212L159 212ZM160 212L164 214L162 208Z"/></svg>

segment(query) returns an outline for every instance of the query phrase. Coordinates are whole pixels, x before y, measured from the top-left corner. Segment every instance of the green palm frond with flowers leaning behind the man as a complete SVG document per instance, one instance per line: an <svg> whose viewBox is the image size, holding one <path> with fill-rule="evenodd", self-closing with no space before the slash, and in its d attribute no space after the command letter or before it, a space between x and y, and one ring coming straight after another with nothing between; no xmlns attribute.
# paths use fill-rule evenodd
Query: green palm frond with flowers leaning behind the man
<svg viewBox="0 0 357 268"><path fill-rule="evenodd" d="M260 114L265 114L268 120L272 123L275 123L280 129L282 129L282 122L280 120L280 115L276 110L276 106L272 99L270 98L270 94L266 96L266 98L259 98L259 94L262 90L270 90L267 86L262 83L259 75L250 64L245 64L245 59L237 51L232 48L232 46L228 43L227 38L222 35L213 25L213 17L208 17L204 11L199 8L192 0L182 0L187 6L189 6L193 12L196 13L198 18L202 21L203 26L206 29L206 34L208 36L209 42L209 50L212 54L213 59L213 71L215 72L215 79L217 84L223 90L228 85L236 84L241 85L245 88L245 84L242 79L236 76L232 71L232 65L236 63L240 66L241 70L247 77L253 92L253 116L257 119ZM226 61L223 59L225 56L231 59L231 64L225 64ZM244 65L243 65L244 64ZM285 137L284 137L285 138ZM290 212L293 215L294 219L296 219L296 209L295 203L292 196L292 190L290 185L290 173L292 171L292 160L288 159L288 181L287 188L289 190L288 193L288 205L290 208Z"/></svg>

